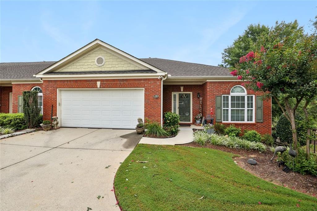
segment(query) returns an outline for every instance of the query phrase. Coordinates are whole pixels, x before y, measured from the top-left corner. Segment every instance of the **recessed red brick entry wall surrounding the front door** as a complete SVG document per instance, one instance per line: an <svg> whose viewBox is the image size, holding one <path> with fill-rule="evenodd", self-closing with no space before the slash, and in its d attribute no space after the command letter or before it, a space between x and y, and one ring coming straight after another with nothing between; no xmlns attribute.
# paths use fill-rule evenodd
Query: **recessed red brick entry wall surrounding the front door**
<svg viewBox="0 0 317 211"><path fill-rule="evenodd" d="M192 123L195 123L195 116L199 114L197 93L202 94L202 85L163 85L163 114L172 110L172 92L180 92L181 86L184 86L183 92L192 92Z"/></svg>

